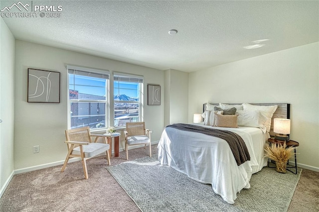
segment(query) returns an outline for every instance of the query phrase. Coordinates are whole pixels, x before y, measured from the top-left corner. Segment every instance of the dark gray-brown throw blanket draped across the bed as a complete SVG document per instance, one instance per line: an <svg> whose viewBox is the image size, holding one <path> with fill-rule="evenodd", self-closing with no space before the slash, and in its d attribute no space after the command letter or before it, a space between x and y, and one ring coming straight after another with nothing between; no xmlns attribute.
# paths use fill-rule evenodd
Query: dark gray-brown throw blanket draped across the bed
<svg viewBox="0 0 319 212"><path fill-rule="evenodd" d="M206 135L222 138L229 144L229 147L235 157L238 166L250 160L250 155L243 138L234 132L183 123L171 124L166 127L172 127L191 132L199 132Z"/></svg>

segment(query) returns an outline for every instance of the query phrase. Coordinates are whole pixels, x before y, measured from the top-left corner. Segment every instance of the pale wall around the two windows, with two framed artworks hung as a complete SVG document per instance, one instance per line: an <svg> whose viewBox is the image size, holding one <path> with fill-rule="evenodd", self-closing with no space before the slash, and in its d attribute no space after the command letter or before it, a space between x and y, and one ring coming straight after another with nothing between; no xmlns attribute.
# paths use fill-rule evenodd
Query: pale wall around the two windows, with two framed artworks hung
<svg viewBox="0 0 319 212"><path fill-rule="evenodd" d="M163 89L163 71L16 40L14 169L23 169L65 159L67 148L64 144L64 130L67 129L68 114L67 64L143 75L145 79L144 121L147 128L153 130L152 140L160 139L164 125L163 92L161 106L148 106L146 94L148 83L159 84ZM28 68L61 73L59 104L27 103ZM34 145L39 145L39 153L33 153ZM123 147L124 136L122 135L120 149Z"/></svg>

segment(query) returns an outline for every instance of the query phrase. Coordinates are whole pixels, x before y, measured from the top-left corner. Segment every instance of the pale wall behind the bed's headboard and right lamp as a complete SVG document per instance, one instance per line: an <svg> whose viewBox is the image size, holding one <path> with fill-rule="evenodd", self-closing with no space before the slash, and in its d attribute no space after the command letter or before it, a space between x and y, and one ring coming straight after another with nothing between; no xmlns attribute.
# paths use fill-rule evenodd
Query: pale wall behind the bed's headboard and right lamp
<svg viewBox="0 0 319 212"><path fill-rule="evenodd" d="M210 103L290 103L297 163L319 171L319 42L189 74L189 117Z"/></svg>

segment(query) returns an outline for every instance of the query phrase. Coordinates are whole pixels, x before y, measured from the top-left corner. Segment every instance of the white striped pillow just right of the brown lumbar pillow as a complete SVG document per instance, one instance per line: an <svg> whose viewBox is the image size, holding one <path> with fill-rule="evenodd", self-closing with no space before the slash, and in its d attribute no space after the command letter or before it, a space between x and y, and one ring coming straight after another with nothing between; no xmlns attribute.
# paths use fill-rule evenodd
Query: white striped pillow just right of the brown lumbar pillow
<svg viewBox="0 0 319 212"><path fill-rule="evenodd" d="M237 110L236 114L238 114L238 126L259 127L263 133L266 132L267 117L259 110Z"/></svg>

